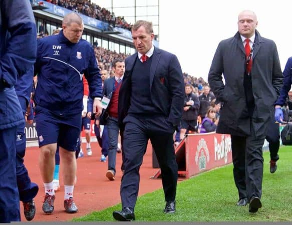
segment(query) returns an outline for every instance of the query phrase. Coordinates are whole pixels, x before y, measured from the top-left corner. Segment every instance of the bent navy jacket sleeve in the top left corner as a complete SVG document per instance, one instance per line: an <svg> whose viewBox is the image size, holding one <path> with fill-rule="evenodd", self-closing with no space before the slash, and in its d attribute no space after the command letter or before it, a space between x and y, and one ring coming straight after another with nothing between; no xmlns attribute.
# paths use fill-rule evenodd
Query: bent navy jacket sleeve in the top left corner
<svg viewBox="0 0 292 225"><path fill-rule="evenodd" d="M37 30L30 1L1 0L2 28L7 28L5 52L0 58L0 88L14 86L36 61ZM3 41L3 40L2 40ZM2 49L3 51L3 49Z"/></svg>

